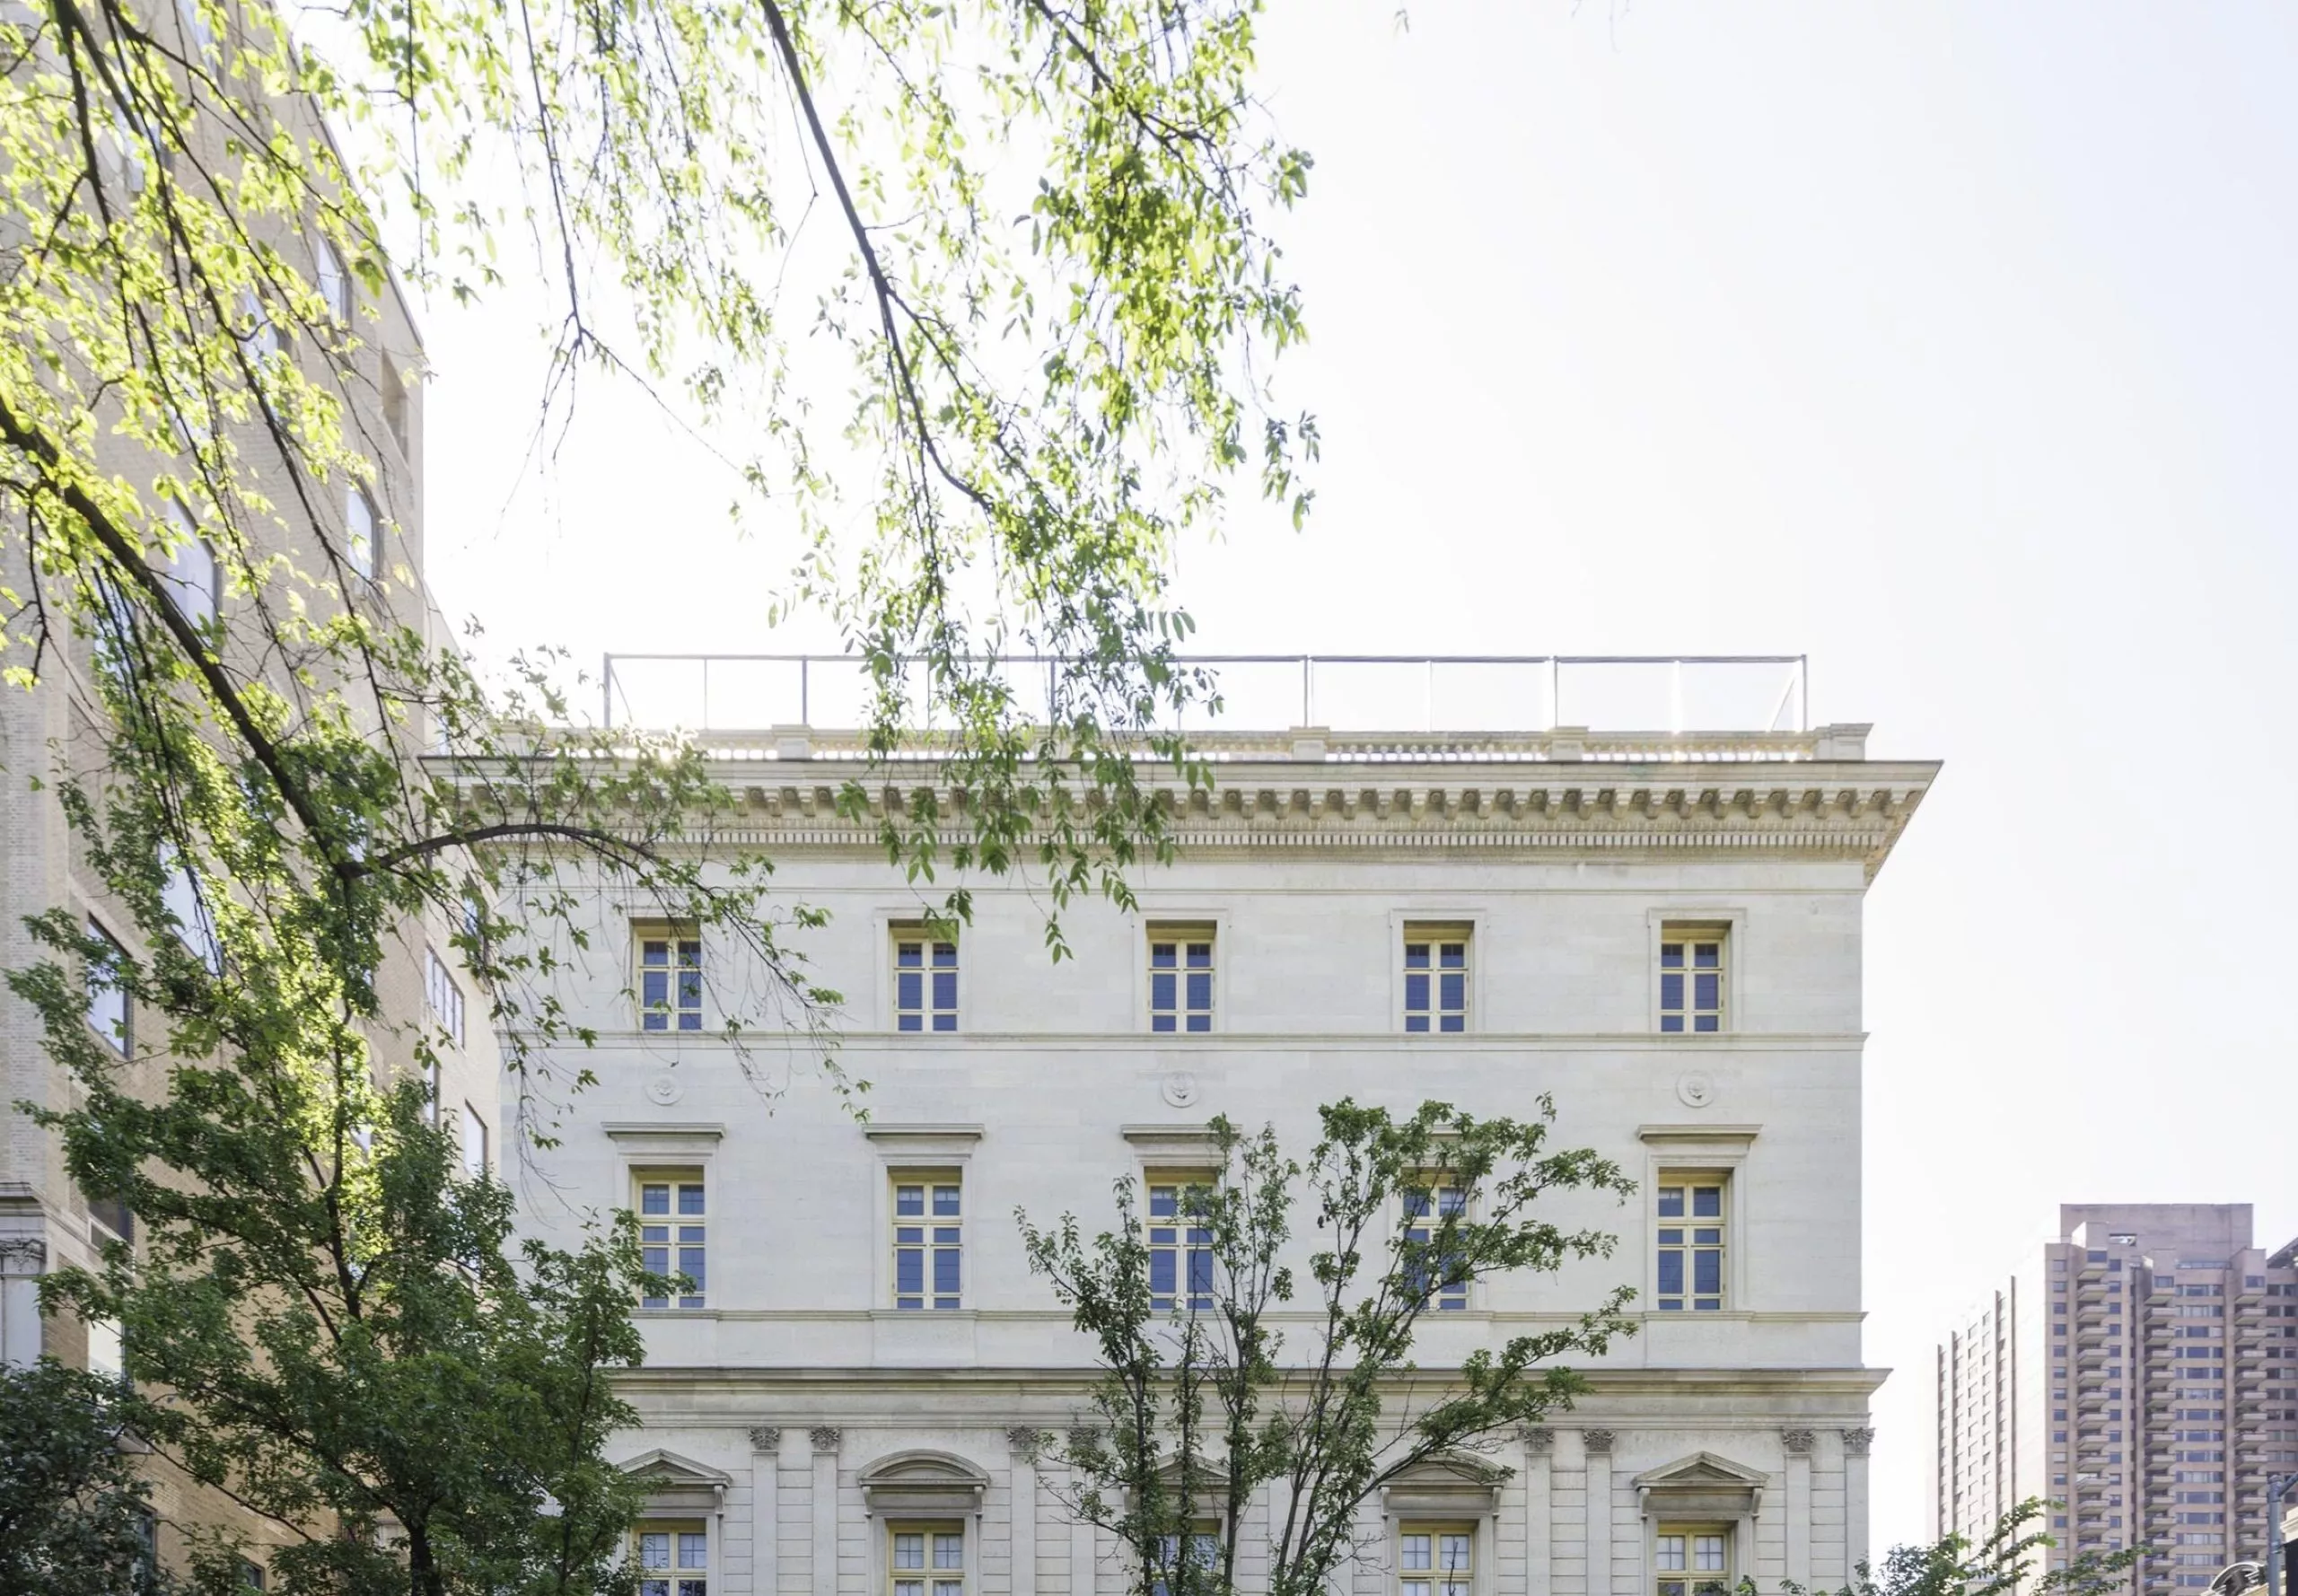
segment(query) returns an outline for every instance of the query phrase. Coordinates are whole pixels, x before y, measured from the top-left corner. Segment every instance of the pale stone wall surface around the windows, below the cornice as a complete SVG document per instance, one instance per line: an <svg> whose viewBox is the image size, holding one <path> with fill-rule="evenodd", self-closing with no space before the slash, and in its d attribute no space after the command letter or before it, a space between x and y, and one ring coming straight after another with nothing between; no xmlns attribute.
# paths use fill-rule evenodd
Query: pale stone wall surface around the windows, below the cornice
<svg viewBox="0 0 2298 1596"><path fill-rule="evenodd" d="M1861 778L1836 767L1813 785ZM1923 778L1928 767L1889 774L1914 790ZM763 827L779 889L830 912L800 946L846 994L836 1059L869 1082L869 1121L781 1038L745 1052L641 1033L625 994L634 905L600 898L561 992L570 1020L600 1031L579 1059L600 1084L526 1171L529 1224L565 1240L632 1201L637 1167L705 1171L710 1307L641 1314L648 1369L627 1389L646 1421L623 1456L660 1451L650 1470L722 1493L728 1596L882 1596L882 1523L862 1477L905 1451L984 1481L967 1596L1121 1591L1115 1548L1062 1513L1052 1465L1009 1444L1013 1426L1069 1426L1092 1378L1089 1348L1027 1275L1013 1210L1103 1224L1110 1183L1170 1167L1216 1111L1271 1121L1305 1148L1317 1105L1342 1095L1524 1116L1551 1093L1558 1144L1599 1148L1645 1187L1625 1206L1556 1201L1558 1222L1613 1231L1618 1254L1480 1286L1471 1311L1432 1316L1420 1364L1560 1323L1613 1284L1650 1297L1650 1185L1666 1167L1730 1171L1728 1304L1645 1316L1586 1366L1593 1394L1576 1410L1503 1442L1494 1461L1512 1474L1478 1525L1478 1596L1650 1596L1657 1518L1698 1479L1749 1504L1730 1525L1733 1575L1841 1585L1866 1555L1866 1410L1882 1378L1859 1348L1859 914L1907 806L1861 820L1822 804L1795 845L1728 815L1696 838L1627 815L1583 847L1491 845L1457 811L1370 843L1248 818L1144 873L1138 914L1069 909L1075 958L1062 964L1043 951L1041 896L977 882L956 1036L892 1029L887 928L926 907L919 891L859 836L816 824L777 840ZM1721 1036L1657 1033L1659 925L1675 919L1730 925ZM1211 1036L1147 1029L1156 921L1218 925ZM1402 1036L1406 921L1473 923L1466 1036ZM705 958L712 1004L751 990L724 948ZM963 1169L961 1314L892 1311L889 1183L903 1167ZM834 1451L816 1454L813 1431L834 1431ZM1638 1477L1671 1465L1684 1472L1648 1502ZM1264 1534L1257 1513L1239 1548L1248 1589L1266 1578ZM1340 1582L1381 1596L1393 1580L1377 1539Z"/></svg>

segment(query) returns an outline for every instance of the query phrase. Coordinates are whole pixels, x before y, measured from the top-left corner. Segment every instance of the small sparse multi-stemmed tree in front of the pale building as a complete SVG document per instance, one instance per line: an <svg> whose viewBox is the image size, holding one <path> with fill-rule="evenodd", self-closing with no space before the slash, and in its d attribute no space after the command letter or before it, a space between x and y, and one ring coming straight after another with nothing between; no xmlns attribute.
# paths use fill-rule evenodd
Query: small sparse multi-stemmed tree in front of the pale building
<svg viewBox="0 0 2298 1596"><path fill-rule="evenodd" d="M1138 1596L1234 1591L1239 1529L1266 1488L1266 1591L1331 1589L1374 1493L1429 1463L1498 1479L1478 1454L1586 1389L1556 1359L1634 1334L1620 1286L1576 1323L1475 1348L1457 1369L1413 1362L1475 1284L1611 1256L1611 1233L1556 1226L1537 1206L1636 1185L1588 1148L1549 1148L1553 1118L1547 1098L1524 1121L1342 1100L1319 1109L1305 1160L1273 1128L1216 1118L1216 1178L1158 1192L1156 1213L1126 1176L1117 1222L1092 1240L1073 1215L1043 1229L1020 1215L1030 1268L1103 1371L1089 1412L1046 1440L1069 1479L1055 1493L1128 1550ZM1298 1215L1314 1242L1296 1261ZM1287 1343L1303 1311L1312 1327Z"/></svg>

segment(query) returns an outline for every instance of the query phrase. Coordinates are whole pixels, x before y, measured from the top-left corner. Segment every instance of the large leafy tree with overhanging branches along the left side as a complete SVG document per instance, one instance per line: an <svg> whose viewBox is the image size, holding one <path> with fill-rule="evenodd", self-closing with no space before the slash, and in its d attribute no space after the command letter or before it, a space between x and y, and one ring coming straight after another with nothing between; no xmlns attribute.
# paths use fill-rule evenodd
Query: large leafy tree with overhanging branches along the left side
<svg viewBox="0 0 2298 1596"><path fill-rule="evenodd" d="M71 1178L140 1217L48 1297L124 1325L154 1444L299 1541L285 1589L586 1589L630 1506L627 1238L508 1249L501 1190L457 1178L441 1024L379 976L409 925L450 928L531 1134L584 1086L540 1063L586 1040L549 997L595 930L570 866L765 971L715 994L738 1056L797 1033L859 1086L793 946L816 914L703 751L577 723L547 654L483 682L391 558L377 462L421 381L391 296L540 282L547 427L593 377L680 406L802 547L784 599L871 671L882 776L839 801L921 891L1027 873L1059 955L1073 893L1170 854L1140 753L1206 778L1170 733L1213 694L1174 659L1174 540L1239 478L1308 508L1264 225L1308 158L1255 101L1257 14L0 16L0 671L71 700L9 781L55 795L136 944L51 914L9 974L74 1082ZM1013 654L1052 657L1043 707Z"/></svg>

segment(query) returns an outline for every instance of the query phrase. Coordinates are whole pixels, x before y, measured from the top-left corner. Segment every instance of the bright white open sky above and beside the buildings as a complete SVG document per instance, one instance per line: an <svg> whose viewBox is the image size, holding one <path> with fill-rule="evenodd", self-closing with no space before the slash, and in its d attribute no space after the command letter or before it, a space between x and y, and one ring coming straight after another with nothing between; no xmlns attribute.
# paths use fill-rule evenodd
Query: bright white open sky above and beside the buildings
<svg viewBox="0 0 2298 1596"><path fill-rule="evenodd" d="M1930 1348L2054 1203L2298 1233L2298 11L1275 11L1326 466L1305 535L1183 551L1204 645L1809 652L1815 719L1946 760L1868 898L1873 1536L1914 1539ZM820 641L609 406L510 496L524 344L427 331L450 613Z"/></svg>

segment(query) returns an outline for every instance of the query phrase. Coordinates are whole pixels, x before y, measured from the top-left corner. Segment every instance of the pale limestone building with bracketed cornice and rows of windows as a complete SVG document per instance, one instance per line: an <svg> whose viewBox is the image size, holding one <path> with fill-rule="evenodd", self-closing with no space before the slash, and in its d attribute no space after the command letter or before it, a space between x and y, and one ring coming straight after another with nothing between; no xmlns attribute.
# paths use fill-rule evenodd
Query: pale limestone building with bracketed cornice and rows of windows
<svg viewBox="0 0 2298 1596"><path fill-rule="evenodd" d="M921 889L830 801L869 774L850 742L710 742L781 889L830 912L802 948L846 997L836 1059L869 1118L804 1049L712 1033L712 990L747 978L719 946L597 900L558 992L597 1043L558 1063L600 1084L515 1178L535 1233L632 1208L701 1281L641 1307L627 1382L660 1596L1126 1589L1032 1447L1094 1371L1013 1215L1105 1224L1110 1183L1190 1171L1216 1111L1305 1146L1342 1095L1528 1114L1553 1093L1558 1144L1641 1187L1553 1215L1615 1231L1611 1261L1434 1316L1422 1369L1622 1281L1641 1332L1505 1440L1498 1483L1393 1490L1351 1596L1413 1596L1416 1534L1459 1536L1464 1596L1834 1587L1866 1557L1861 905L1935 765L1868 758L1864 726L1234 733L1138 912L1075 905L1052 962L1018 884L972 882L954 937L919 925Z"/></svg>

